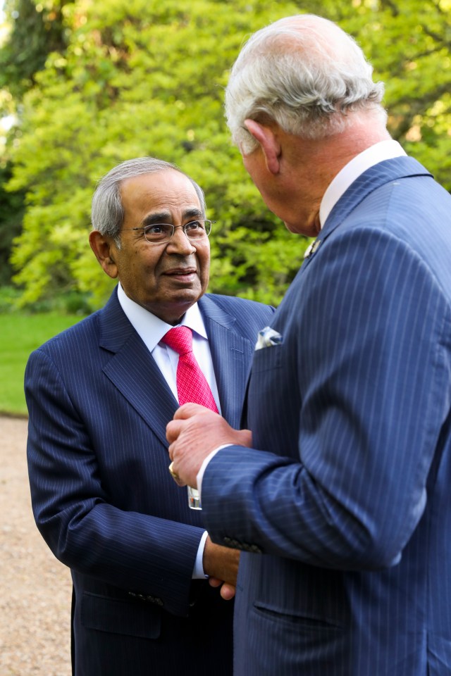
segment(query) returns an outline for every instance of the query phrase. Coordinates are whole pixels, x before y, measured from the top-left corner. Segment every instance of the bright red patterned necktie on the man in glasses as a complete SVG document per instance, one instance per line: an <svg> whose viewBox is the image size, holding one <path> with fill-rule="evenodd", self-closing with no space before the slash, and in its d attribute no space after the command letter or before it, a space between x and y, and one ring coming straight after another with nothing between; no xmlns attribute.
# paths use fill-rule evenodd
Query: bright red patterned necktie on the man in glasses
<svg viewBox="0 0 451 676"><path fill-rule="evenodd" d="M178 403L182 406L187 401L202 403L218 413L214 396L211 393L206 377L192 353L192 331L187 326L178 326L163 336L161 342L166 343L179 354L177 365Z"/></svg>

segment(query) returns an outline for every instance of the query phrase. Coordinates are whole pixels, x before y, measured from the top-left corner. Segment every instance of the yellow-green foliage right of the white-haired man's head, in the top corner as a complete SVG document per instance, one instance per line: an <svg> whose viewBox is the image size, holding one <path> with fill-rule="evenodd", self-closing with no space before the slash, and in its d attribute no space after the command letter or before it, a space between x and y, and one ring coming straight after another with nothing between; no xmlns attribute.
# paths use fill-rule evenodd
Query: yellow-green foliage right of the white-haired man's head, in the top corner
<svg viewBox="0 0 451 676"><path fill-rule="evenodd" d="M450 0L330 5L335 19L362 44L378 79L385 82L391 134L450 190Z"/></svg>

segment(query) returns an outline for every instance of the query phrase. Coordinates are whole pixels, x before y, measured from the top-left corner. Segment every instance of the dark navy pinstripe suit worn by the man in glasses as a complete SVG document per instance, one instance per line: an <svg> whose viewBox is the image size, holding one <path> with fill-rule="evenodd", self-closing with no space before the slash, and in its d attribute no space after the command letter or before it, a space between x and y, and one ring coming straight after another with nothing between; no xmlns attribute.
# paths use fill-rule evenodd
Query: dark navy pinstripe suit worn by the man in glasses
<svg viewBox="0 0 451 676"><path fill-rule="evenodd" d="M237 427L273 310L211 295L199 307L222 412ZM73 575L75 674L230 674L233 603L191 579L202 513L168 472L178 403L116 291L32 353L25 392L35 519Z"/></svg>

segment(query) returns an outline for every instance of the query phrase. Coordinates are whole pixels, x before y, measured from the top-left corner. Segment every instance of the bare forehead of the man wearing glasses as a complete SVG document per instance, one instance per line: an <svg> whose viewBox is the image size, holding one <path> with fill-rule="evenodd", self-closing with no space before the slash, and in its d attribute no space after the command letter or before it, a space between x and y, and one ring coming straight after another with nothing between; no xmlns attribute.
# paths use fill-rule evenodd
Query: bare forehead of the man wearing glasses
<svg viewBox="0 0 451 676"><path fill-rule="evenodd" d="M192 182L172 169L125 179L121 183L121 199L125 215L201 208Z"/></svg>

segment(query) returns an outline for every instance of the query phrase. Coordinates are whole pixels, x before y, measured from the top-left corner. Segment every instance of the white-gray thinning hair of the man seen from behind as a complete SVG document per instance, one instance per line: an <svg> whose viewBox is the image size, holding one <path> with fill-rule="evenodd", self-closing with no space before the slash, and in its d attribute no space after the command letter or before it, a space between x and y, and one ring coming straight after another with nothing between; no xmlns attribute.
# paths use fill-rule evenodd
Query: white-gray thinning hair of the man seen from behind
<svg viewBox="0 0 451 676"><path fill-rule="evenodd" d="M289 134L320 139L341 132L354 113L372 111L385 125L383 82L354 38L311 14L280 19L252 35L238 56L226 89L226 118L245 153L257 146L250 118L275 120Z"/></svg>

